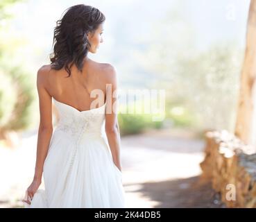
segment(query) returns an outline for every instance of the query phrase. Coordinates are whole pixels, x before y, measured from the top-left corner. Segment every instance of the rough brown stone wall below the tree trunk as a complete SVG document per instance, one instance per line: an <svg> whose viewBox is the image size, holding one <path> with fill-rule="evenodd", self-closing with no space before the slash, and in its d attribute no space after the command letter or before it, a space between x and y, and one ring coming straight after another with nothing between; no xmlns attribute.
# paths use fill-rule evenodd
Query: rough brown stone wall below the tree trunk
<svg viewBox="0 0 256 222"><path fill-rule="evenodd" d="M202 179L211 180L227 207L256 207L255 147L225 130L205 133Z"/></svg>

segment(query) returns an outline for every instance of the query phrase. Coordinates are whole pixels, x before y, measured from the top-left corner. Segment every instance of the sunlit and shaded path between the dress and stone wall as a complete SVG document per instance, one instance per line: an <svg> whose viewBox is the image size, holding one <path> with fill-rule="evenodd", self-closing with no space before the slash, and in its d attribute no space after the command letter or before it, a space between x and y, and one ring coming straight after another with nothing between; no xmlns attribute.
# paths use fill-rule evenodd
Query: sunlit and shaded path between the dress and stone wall
<svg viewBox="0 0 256 222"><path fill-rule="evenodd" d="M225 207L211 185L199 180L204 142L192 133L150 131L124 137L122 148L130 207Z"/></svg>

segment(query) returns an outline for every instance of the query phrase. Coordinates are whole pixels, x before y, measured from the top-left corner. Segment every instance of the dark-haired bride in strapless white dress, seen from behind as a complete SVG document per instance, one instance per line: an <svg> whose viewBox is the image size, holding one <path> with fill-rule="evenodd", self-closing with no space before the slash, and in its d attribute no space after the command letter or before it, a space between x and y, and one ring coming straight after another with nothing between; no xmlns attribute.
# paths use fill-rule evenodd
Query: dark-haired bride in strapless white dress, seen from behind
<svg viewBox="0 0 256 222"><path fill-rule="evenodd" d="M87 56L103 42L104 22L99 9L79 4L68 8L54 29L51 64L37 72L40 126L25 207L126 206L117 72ZM59 114L54 130L52 100ZM44 189L38 189L42 176Z"/></svg>

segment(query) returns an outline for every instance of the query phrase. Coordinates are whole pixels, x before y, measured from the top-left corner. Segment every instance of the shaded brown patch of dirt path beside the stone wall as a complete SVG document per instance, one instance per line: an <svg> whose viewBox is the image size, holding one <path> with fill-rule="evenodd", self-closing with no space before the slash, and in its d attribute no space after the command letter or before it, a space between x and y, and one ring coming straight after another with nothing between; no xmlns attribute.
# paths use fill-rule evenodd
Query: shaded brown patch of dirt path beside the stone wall
<svg viewBox="0 0 256 222"><path fill-rule="evenodd" d="M163 182L146 182L140 191L144 196L157 201L155 207L160 208L225 207L220 201L220 196L212 190L210 183L200 182L198 176Z"/></svg>

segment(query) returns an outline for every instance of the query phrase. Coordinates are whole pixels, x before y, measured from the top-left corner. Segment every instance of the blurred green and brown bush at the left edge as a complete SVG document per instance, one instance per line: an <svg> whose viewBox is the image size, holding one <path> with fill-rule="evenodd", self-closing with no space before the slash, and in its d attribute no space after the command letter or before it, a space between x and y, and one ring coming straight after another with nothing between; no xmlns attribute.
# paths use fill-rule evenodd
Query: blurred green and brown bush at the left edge
<svg viewBox="0 0 256 222"><path fill-rule="evenodd" d="M0 83L0 128L23 130L31 124L35 99L33 78L20 66L5 67Z"/></svg>

